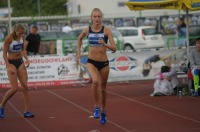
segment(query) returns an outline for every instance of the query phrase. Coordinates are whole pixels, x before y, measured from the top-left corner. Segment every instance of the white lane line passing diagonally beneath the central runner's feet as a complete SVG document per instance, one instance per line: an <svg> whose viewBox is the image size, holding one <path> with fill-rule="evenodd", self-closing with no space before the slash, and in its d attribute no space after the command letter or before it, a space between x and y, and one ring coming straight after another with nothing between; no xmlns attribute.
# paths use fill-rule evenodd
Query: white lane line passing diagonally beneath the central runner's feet
<svg viewBox="0 0 200 132"><path fill-rule="evenodd" d="M64 97L62 97L62 96L59 95L59 94L56 94L56 93L53 92L53 91L50 91L50 90L46 90L46 91L49 92L49 93L51 93L52 95L54 95L54 96L56 96L56 97L62 99L62 100L64 100L64 101L66 101L66 102L68 102L68 103L74 105L75 107L77 107L77 108L79 108L79 109L81 109L81 110L83 110L83 111L89 113L89 114L93 114L93 113L90 112L89 110L87 110L87 109L81 107L80 105L78 105L78 104L76 104L76 103L74 103L74 102L72 102L72 101L70 101L70 100L68 100L68 99L66 99L66 98L64 98ZM107 121L108 121L109 123L113 124L114 126L116 126L116 127L120 128L120 129L124 130L125 132L133 132L133 131L136 131L136 130L128 130L128 129L126 129L126 128L124 128L124 127L122 127L122 126L120 126L120 125L118 125L118 124L116 124L116 123L114 123L114 122L112 122L112 121L110 121L110 120L107 120Z"/></svg>

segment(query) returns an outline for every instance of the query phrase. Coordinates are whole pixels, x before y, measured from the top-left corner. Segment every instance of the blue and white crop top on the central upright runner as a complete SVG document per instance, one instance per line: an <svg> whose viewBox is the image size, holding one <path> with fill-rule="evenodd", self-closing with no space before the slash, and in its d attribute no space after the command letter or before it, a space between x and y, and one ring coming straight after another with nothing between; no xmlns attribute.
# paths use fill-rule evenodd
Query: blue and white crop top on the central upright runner
<svg viewBox="0 0 200 132"><path fill-rule="evenodd" d="M108 36L104 36L104 26L102 26L101 31L93 32L91 27L89 26L89 35L88 41L90 46L103 46L102 44L98 43L98 40L102 38L105 43L108 42Z"/></svg>

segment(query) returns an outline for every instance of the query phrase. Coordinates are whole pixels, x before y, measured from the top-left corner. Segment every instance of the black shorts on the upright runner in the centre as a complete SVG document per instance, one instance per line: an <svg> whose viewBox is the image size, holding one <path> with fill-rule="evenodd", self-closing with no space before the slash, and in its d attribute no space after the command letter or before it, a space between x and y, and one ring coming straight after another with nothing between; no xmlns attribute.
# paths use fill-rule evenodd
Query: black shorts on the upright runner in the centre
<svg viewBox="0 0 200 132"><path fill-rule="evenodd" d="M102 68L109 65L108 60L107 61L95 61L95 60L92 60L92 59L89 59L89 58L87 60L87 63L93 64L98 69L98 71L100 71Z"/></svg>

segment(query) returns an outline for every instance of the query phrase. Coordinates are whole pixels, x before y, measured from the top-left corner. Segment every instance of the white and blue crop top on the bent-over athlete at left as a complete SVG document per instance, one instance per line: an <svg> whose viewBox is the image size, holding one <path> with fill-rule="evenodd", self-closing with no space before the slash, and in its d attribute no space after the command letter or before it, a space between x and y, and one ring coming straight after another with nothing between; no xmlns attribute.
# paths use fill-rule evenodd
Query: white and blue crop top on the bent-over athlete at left
<svg viewBox="0 0 200 132"><path fill-rule="evenodd" d="M24 41L21 38L19 41L13 40L9 45L9 52L21 52L24 46Z"/></svg>

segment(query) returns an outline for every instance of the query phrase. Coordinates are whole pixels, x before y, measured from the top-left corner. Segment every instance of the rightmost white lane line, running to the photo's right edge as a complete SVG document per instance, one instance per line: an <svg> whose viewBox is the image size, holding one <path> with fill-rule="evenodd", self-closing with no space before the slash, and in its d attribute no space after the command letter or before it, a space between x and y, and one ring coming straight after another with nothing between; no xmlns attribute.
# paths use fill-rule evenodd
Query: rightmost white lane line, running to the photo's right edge
<svg viewBox="0 0 200 132"><path fill-rule="evenodd" d="M198 121L198 120L195 120L195 119L192 119L192 118L188 118L188 117L185 117L185 116L181 116L181 115L179 115L179 114L176 114L176 113L173 113L173 112L170 112L170 111L167 111L167 110L164 110L164 109L161 109L161 108L158 108L158 107L149 105L149 104L145 104L145 103L143 103L143 102L140 102L140 101L137 101L137 100L134 100L134 99L125 97L125 96L120 95L120 94L117 94L117 93L113 93L113 92L110 92L110 91L107 91L107 93L110 93L110 94L112 94L112 95L119 96L119 97L124 98L124 99L127 99L127 100L129 100L129 101L132 101L132 102L135 102L135 103L138 103L138 104L142 104L142 105L145 105L145 106L154 108L154 109L156 109L156 110L159 110L159 111L162 111L162 112L166 112L166 113L168 113L168 114L175 115L175 116L181 117L181 118L183 118L183 119L187 119L187 120L190 120L190 121L193 121L193 122L196 122L196 123L199 123L199 124L200 124L200 121Z"/></svg>

